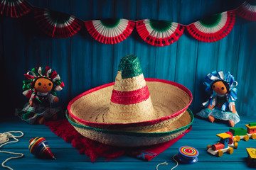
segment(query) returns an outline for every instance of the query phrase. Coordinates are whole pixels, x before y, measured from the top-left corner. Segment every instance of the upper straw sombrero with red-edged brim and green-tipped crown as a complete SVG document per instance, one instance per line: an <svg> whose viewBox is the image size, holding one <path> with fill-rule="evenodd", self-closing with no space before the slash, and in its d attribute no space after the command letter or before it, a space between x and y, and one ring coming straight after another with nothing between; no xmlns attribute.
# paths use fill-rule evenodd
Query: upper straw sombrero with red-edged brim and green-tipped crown
<svg viewBox="0 0 256 170"><path fill-rule="evenodd" d="M182 133L186 130L183 127L193 121L193 114L186 111L191 101L191 92L181 84L144 79L138 57L128 55L120 60L114 83L73 98L68 114L76 130L80 128L78 132L89 138L90 133L85 134L87 127L128 133ZM175 127L169 128L172 124Z"/></svg>

